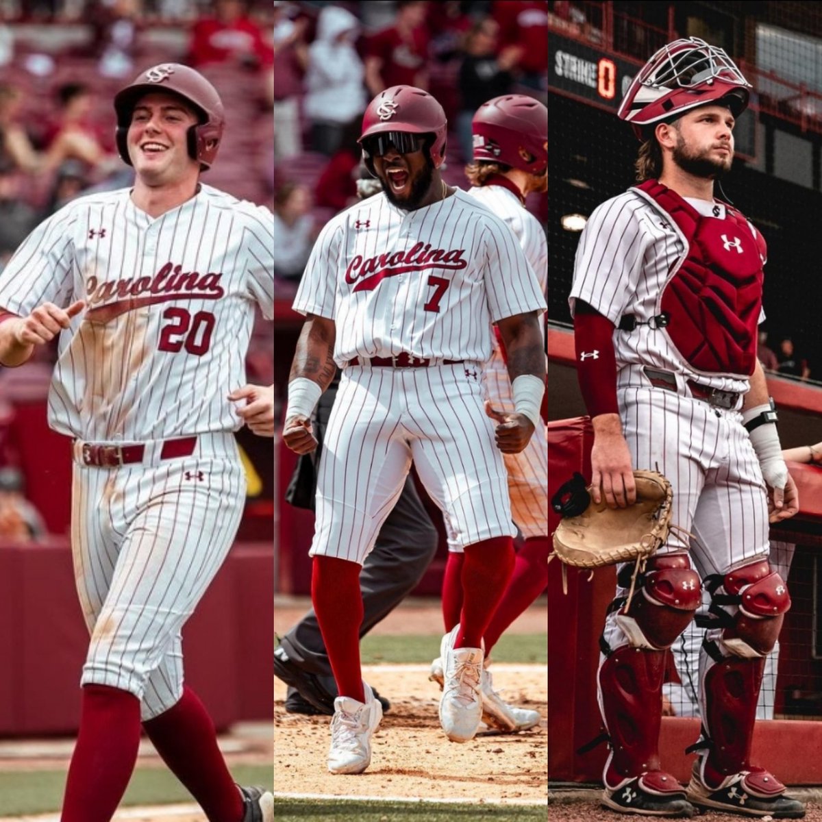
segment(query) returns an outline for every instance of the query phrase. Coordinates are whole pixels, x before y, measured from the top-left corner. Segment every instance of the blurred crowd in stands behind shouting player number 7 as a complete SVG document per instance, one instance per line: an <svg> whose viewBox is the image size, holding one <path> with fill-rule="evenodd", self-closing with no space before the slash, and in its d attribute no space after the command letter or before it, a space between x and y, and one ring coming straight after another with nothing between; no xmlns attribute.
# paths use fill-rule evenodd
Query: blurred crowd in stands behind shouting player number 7
<svg viewBox="0 0 822 822"><path fill-rule="evenodd" d="M370 99L391 85L428 90L449 123L443 177L469 187L471 118L488 99L547 104L547 0L277 2L275 270L287 299L322 225L368 177L357 138ZM547 196L529 208L547 218Z"/></svg>

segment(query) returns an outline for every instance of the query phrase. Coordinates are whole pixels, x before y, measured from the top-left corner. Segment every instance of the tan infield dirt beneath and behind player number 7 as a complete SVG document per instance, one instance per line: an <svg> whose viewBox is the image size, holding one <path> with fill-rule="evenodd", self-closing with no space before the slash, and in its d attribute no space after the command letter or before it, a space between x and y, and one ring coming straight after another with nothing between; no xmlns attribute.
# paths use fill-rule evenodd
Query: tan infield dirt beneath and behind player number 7
<svg viewBox="0 0 822 822"><path fill-rule="evenodd" d="M276 628L286 630L302 616L300 603L275 604ZM513 637L544 635L543 604L532 607L511 627ZM545 806L547 722L514 735L482 734L458 745L446 739L437 715L440 690L428 681L428 663L439 647L438 603L400 607L363 643L365 659L380 638L388 640L390 664L366 664L365 679L391 702L373 742L372 764L364 774L332 776L326 770L330 717L285 713L285 686L275 681L275 793L279 797L424 798L427 801L488 802ZM524 636L523 636L524 638ZM539 640L536 640L536 644ZM385 648L383 642L382 647ZM397 663L414 649L413 661ZM418 658L420 650L426 661ZM492 666L494 686L507 702L545 715L547 667L506 658ZM544 810L543 810L544 813ZM323 819L312 815L312 819ZM327 818L331 818L330 816Z"/></svg>

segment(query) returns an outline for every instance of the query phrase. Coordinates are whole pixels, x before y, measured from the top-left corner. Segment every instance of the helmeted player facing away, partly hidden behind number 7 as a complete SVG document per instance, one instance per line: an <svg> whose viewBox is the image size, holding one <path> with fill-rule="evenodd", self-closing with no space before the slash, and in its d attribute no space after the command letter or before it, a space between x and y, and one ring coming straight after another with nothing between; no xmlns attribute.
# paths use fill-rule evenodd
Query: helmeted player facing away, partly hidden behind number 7
<svg viewBox="0 0 822 822"><path fill-rule="evenodd" d="M473 116L473 164L466 176L469 194L505 221L514 232L525 257L547 286L547 242L539 220L525 209L525 197L547 190L548 111L524 95L504 95L481 105ZM501 271L501 276L506 272ZM514 397L506 368L506 352L497 331L492 337L492 358L485 363L485 381L492 408L514 410ZM503 454L508 472L511 513L524 543L517 552L514 573L496 608L483 639L483 722L504 732L523 731L539 722L537 711L506 704L493 689L487 671L491 651L502 632L529 607L548 581L547 439L538 425L528 446L519 454ZM462 546L449 539L449 554L442 586L442 613L446 630L459 622L462 607ZM432 679L442 681L441 660L432 664Z"/></svg>

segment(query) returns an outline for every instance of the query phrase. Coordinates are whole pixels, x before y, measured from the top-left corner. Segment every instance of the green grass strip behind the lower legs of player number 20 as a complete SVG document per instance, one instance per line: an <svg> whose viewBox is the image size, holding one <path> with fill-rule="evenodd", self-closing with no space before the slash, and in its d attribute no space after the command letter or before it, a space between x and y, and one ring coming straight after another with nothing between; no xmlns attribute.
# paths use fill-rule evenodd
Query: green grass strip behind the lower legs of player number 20
<svg viewBox="0 0 822 822"><path fill-rule="evenodd" d="M231 772L242 785L271 787L270 765L237 765ZM0 772L0 816L59 810L65 783L65 770ZM191 794L167 769L152 767L134 772L122 806L191 801Z"/></svg>

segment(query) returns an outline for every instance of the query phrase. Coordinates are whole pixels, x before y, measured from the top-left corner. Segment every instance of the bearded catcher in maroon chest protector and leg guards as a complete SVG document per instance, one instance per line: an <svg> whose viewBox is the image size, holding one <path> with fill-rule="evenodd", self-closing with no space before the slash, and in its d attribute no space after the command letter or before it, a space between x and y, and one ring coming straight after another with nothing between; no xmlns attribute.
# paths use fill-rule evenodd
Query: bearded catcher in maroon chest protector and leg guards
<svg viewBox="0 0 822 822"><path fill-rule="evenodd" d="M576 256L570 303L594 500L626 506L632 469L658 470L673 486L672 522L695 537L671 538L649 559L636 580L643 595L627 608L631 569L621 569L608 608L603 803L621 813L688 816L691 803L774 819L805 812L750 763L764 658L791 604L769 566L769 514L792 516L798 499L756 360L764 239L713 196L749 89L700 39L654 54L619 109L642 141L639 184L594 210ZM715 620L700 653L703 729L685 789L660 767L661 689L665 650L700 606L700 577Z"/></svg>

